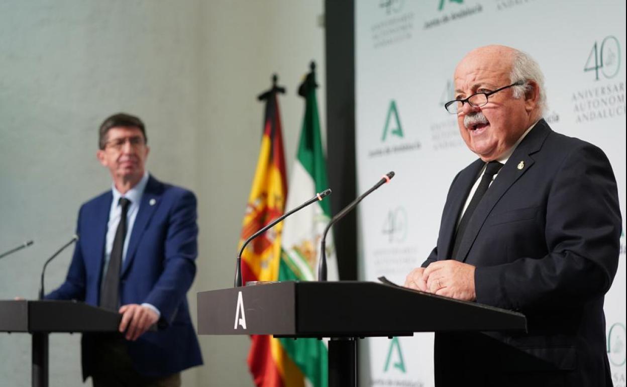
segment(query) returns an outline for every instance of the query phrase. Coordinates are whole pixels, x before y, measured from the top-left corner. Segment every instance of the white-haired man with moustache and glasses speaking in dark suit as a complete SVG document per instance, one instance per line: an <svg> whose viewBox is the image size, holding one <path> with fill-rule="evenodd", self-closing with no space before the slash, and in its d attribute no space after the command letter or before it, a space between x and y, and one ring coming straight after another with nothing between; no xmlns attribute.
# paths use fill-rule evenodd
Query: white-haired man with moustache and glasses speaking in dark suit
<svg viewBox="0 0 627 387"><path fill-rule="evenodd" d="M544 80L505 46L455 70L461 137L477 161L451 184L438 243L405 286L527 316L527 332L437 333L436 386L611 386L604 294L621 215L603 151L542 119Z"/></svg>

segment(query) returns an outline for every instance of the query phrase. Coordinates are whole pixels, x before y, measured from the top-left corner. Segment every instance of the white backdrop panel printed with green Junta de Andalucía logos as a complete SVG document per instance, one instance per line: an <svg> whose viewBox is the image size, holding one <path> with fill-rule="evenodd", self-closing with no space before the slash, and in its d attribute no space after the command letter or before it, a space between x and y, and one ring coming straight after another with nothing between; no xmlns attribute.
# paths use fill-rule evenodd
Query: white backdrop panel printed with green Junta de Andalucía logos
<svg viewBox="0 0 627 387"><path fill-rule="evenodd" d="M554 130L608 154L624 229L624 1L356 1L358 189L396 172L392 184L359 208L362 280L386 275L402 283L435 246L450 183L476 158L443 102L453 99L456 63L493 43L539 62L549 102L545 119ZM624 259L623 233L605 308L616 386L625 385ZM362 385L433 386L432 334L369 339L369 348L370 378Z"/></svg>

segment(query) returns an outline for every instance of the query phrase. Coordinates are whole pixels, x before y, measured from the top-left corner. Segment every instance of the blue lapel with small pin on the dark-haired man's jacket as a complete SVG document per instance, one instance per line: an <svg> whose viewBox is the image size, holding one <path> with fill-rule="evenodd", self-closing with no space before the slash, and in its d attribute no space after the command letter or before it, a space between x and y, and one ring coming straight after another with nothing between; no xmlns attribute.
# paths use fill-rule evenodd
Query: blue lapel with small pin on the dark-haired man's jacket
<svg viewBox="0 0 627 387"><path fill-rule="evenodd" d="M154 214L155 209L161 204L161 195L163 192L163 184L152 176L149 177L144 194L137 210L137 217L133 225L133 231L130 233L129 247L127 248L126 258L122 265L122 273L120 277L124 277L127 270L129 270L130 264L135 258L135 252L137 252L137 245L144 235L144 230L149 224L150 218Z"/></svg>

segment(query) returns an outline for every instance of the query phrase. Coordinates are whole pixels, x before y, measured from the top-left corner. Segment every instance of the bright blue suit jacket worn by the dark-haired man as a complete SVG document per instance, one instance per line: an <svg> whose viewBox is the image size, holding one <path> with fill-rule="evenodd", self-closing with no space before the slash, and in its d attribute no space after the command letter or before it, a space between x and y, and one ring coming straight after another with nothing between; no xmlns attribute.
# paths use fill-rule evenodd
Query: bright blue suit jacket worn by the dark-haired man
<svg viewBox="0 0 627 387"><path fill-rule="evenodd" d="M83 204L78 213L74 255L65 282L46 296L98 305L111 191ZM152 201L153 204L150 204ZM203 363L189 316L186 293L198 255L196 197L150 176L130 234L120 277L121 304L147 302L161 312L160 329L127 342L139 373L165 376ZM90 351L83 340L83 377Z"/></svg>

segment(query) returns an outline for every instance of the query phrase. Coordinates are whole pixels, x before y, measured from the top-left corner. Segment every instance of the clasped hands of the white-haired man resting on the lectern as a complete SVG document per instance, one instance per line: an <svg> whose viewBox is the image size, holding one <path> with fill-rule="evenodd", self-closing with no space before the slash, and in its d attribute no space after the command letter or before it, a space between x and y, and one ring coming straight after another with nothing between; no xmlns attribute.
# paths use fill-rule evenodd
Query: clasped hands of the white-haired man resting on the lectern
<svg viewBox="0 0 627 387"><path fill-rule="evenodd" d="M405 278L404 286L464 301L477 298L475 267L456 260L437 261L426 268L414 268Z"/></svg>

